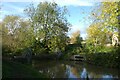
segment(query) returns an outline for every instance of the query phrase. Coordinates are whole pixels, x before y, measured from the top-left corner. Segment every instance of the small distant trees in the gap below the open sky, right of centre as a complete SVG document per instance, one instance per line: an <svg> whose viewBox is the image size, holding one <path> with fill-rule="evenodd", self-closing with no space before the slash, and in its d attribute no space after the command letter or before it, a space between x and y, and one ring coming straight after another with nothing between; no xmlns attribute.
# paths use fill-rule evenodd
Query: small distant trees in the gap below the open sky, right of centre
<svg viewBox="0 0 120 80"><path fill-rule="evenodd" d="M83 41L80 37L80 31L75 31L70 37L70 44L67 46L66 55L69 57L73 54L81 54L83 52L83 47L81 42ZM68 55L69 54L69 55Z"/></svg>

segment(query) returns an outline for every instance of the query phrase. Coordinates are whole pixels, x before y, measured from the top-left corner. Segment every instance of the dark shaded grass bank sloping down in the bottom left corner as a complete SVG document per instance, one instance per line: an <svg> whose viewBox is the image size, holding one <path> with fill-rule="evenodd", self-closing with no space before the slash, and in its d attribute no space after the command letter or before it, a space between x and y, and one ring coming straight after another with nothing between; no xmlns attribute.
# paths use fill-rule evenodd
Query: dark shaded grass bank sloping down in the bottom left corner
<svg viewBox="0 0 120 80"><path fill-rule="evenodd" d="M2 78L45 78L30 65L3 60Z"/></svg>

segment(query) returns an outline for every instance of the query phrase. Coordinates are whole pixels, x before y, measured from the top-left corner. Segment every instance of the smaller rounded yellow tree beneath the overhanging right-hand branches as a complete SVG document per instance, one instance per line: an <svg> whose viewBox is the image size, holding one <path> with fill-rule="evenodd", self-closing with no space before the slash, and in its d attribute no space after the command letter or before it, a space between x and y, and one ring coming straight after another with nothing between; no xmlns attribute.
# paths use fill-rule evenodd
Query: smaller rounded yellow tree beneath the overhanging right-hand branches
<svg viewBox="0 0 120 80"><path fill-rule="evenodd" d="M104 45L110 42L111 34L106 28L101 27L100 23L93 23L87 29L89 42L94 45Z"/></svg>

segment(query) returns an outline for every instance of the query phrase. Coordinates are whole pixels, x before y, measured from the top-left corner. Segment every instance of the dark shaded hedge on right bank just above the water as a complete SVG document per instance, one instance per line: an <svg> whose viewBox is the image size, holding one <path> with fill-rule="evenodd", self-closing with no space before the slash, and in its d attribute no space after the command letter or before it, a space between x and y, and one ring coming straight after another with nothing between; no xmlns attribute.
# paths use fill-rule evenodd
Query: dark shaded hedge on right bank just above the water
<svg viewBox="0 0 120 80"><path fill-rule="evenodd" d="M86 54L86 60L89 63L99 66L120 68L118 61L118 53L116 52L113 53L101 52Z"/></svg>

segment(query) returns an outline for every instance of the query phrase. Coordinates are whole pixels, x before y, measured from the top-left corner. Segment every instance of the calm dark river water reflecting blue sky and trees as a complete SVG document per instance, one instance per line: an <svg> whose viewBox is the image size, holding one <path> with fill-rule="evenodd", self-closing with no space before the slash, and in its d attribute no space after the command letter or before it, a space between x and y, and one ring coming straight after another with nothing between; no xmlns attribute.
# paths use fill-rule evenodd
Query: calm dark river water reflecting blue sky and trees
<svg viewBox="0 0 120 80"><path fill-rule="evenodd" d="M32 66L49 78L118 78L117 69L75 61L33 61Z"/></svg>

